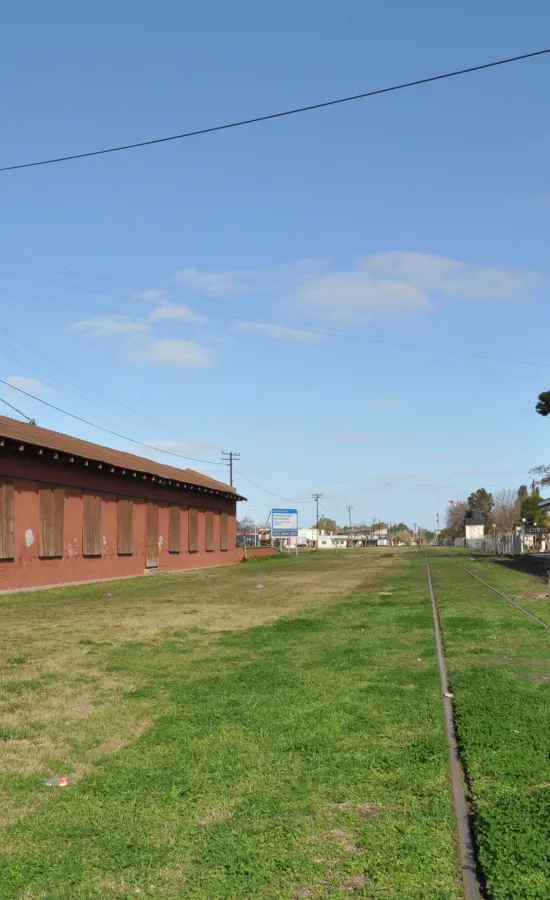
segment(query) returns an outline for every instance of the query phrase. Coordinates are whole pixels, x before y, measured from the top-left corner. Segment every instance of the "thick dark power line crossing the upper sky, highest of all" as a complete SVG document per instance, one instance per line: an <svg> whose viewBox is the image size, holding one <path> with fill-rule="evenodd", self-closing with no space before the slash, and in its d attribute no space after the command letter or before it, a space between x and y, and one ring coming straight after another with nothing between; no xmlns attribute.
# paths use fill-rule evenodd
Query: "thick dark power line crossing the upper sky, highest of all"
<svg viewBox="0 0 550 900"><path fill-rule="evenodd" d="M508 63L519 62L524 59L532 59L535 56L543 56L550 53L550 47L546 50L535 50L532 53L523 53L521 56L509 56L506 59L498 59L494 62L482 63L477 66L469 66L466 69L457 69L454 72L445 72L441 75L431 75L429 78L418 78L415 81L407 81L403 84L394 84L391 87L379 88L375 91L364 91L361 94L352 94L349 97L339 97L337 100L325 100L322 103L312 103L309 106L298 106L283 112L269 113L263 116L254 116L250 119L241 119L237 122L228 122L225 125L212 125L209 128L199 128L195 131L186 131L182 134L172 134L167 137L153 138L148 141L137 141L133 144L121 144L118 147L106 147L103 150L89 150L86 153L73 153L67 156L57 156L51 159L40 159L30 163L18 163L13 166L2 166L0 172L12 172L14 169L30 169L35 166L48 166L52 163L68 162L73 159L86 159L91 156L104 156L107 153L119 153L122 150L134 150L138 147L150 147L153 144L166 144L169 141L181 141L184 138L198 137L202 134L212 134L216 131L228 131L231 128L240 128L243 125L255 125L258 122L268 122L272 119L282 119L285 116L295 116L298 113L311 112L315 109L326 109L329 106L337 106L342 103L351 103L354 100L366 100L368 97L376 97L380 94L389 94L393 91L402 91L405 88L418 87L422 84L431 84L434 81L443 81L446 78L456 78L458 75L468 75L471 72L481 72L483 69L493 69L496 66L504 66Z"/></svg>

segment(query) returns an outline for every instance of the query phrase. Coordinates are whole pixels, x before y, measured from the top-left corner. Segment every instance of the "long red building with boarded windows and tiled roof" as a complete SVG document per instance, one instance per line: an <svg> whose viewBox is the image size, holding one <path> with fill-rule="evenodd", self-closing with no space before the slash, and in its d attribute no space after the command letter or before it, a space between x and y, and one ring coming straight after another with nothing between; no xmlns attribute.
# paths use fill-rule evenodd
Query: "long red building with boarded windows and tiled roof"
<svg viewBox="0 0 550 900"><path fill-rule="evenodd" d="M0 416L0 591L236 563L235 488Z"/></svg>

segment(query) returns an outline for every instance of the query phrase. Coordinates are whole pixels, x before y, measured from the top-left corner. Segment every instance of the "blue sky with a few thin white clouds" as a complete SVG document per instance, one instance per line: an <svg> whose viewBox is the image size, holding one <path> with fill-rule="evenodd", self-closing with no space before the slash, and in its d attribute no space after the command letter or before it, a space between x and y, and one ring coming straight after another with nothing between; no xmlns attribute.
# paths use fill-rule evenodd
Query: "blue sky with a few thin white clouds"
<svg viewBox="0 0 550 900"><path fill-rule="evenodd" d="M1 164L385 87L548 34L542 0L498 16L473 0L12 5ZM445 499L516 486L550 445L534 412L550 387L549 76L542 57L0 175L0 377L214 477L220 449L240 451L258 520L297 504L309 525L320 491L342 522L352 504L355 521L433 527Z"/></svg>

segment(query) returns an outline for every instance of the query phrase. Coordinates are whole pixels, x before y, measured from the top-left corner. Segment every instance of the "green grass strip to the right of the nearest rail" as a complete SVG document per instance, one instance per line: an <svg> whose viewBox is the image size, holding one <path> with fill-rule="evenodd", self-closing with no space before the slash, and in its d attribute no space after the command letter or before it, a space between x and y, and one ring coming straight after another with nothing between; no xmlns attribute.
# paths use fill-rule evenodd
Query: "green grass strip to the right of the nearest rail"
<svg viewBox="0 0 550 900"><path fill-rule="evenodd" d="M544 584L506 560L458 560L550 622ZM550 633L456 568L431 561L487 892L550 897Z"/></svg>

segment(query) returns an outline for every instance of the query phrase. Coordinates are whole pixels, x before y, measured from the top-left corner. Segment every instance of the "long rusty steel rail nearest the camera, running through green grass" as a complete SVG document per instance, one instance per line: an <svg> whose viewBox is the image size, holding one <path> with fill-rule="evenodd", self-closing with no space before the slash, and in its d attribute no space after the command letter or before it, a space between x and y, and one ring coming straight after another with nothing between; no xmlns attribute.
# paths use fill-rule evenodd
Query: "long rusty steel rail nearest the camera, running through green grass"
<svg viewBox="0 0 550 900"><path fill-rule="evenodd" d="M437 600L432 583L432 573L430 564L426 556L426 569L428 572L428 585L430 588L430 598L432 601L432 613L434 620L435 644L437 648L437 661L439 663L439 672L441 675L441 689L443 693L443 709L445 712L445 725L447 730L447 743L449 745L449 759L451 764L451 783L453 787L456 826L458 835L458 848L460 853L460 873L462 875L462 883L464 885L464 896L466 900L480 900L481 894L477 882L477 866L475 856L475 843L470 829L470 819L468 815L468 804L466 802L466 792L464 790L464 773L458 754L458 742L456 736L455 720L453 713L453 696L449 690L449 682L447 678L447 667L445 665L445 651L443 649L443 639L441 636L441 623L439 620L439 610Z"/></svg>

